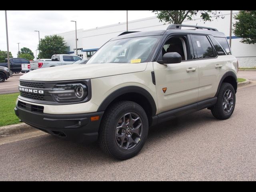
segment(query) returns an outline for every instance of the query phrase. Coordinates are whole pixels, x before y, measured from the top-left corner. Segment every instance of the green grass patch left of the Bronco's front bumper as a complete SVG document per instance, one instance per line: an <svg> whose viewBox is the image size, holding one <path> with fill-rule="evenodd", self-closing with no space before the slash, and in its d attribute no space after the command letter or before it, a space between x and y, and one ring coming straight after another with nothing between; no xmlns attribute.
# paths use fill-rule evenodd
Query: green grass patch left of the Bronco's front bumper
<svg viewBox="0 0 256 192"><path fill-rule="evenodd" d="M19 94L0 94L0 126L20 123L14 113L15 102Z"/></svg>

